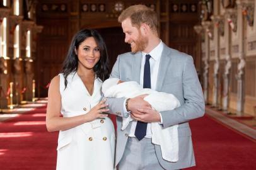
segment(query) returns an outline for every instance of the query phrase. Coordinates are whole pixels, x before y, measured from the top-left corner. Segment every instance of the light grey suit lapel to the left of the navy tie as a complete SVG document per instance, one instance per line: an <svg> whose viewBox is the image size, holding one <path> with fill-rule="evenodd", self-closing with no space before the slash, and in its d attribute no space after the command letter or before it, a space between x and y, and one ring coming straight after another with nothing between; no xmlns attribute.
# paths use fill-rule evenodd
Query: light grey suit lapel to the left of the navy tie
<svg viewBox="0 0 256 170"><path fill-rule="evenodd" d="M131 81L136 81L139 83L139 79L140 79L140 75L141 75L141 59L143 57L143 55L141 54L141 52L137 52L136 54L134 54L134 60L132 60L132 77L131 77Z"/></svg>

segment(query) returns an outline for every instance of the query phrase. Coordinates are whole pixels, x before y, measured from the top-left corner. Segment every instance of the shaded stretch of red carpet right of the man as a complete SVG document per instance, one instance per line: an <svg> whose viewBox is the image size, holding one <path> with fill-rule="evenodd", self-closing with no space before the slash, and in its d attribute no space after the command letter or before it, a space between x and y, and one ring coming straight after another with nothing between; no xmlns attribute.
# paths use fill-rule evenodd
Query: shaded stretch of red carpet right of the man
<svg viewBox="0 0 256 170"><path fill-rule="evenodd" d="M256 141L208 115L190 121L197 166L188 169L256 169Z"/></svg>

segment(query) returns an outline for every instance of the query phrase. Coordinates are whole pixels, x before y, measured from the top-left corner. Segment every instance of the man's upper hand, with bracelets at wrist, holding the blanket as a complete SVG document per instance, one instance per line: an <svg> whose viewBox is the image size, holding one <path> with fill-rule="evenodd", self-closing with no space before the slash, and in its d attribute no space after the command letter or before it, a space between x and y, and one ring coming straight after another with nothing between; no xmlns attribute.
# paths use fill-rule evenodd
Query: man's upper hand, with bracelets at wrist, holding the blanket
<svg viewBox="0 0 256 170"><path fill-rule="evenodd" d="M141 96L137 96L136 98L131 98L128 102L128 109L132 113L136 114L144 114L141 113L138 109L151 109L151 105L147 102L144 101L144 97L148 96L148 94L144 94Z"/></svg>

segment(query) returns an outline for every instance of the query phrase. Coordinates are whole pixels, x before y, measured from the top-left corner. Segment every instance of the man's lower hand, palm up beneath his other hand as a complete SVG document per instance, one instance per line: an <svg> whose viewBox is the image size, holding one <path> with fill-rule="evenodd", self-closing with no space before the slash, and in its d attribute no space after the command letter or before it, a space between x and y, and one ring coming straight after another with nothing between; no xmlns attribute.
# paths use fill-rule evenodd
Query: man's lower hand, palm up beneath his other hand
<svg viewBox="0 0 256 170"><path fill-rule="evenodd" d="M153 110L152 108L148 109L138 109L139 114L132 112L131 117L134 120L141 122L161 122L161 116L158 111ZM143 113L143 114L141 114Z"/></svg>

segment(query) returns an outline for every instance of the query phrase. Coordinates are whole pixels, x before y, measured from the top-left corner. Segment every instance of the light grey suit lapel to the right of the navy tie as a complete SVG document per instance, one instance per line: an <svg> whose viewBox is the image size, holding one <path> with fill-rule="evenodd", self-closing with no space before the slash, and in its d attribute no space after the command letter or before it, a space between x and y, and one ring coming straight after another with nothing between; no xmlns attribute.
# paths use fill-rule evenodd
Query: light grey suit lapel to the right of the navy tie
<svg viewBox="0 0 256 170"><path fill-rule="evenodd" d="M161 91L161 88L163 86L163 81L165 79L166 72L168 71L168 67L171 62L170 57L170 50L169 48L164 44L163 45L163 52L160 59L160 65L158 70L158 80L156 82L156 91Z"/></svg>

